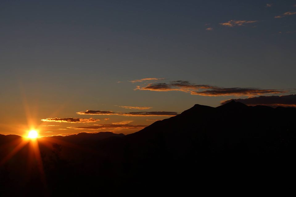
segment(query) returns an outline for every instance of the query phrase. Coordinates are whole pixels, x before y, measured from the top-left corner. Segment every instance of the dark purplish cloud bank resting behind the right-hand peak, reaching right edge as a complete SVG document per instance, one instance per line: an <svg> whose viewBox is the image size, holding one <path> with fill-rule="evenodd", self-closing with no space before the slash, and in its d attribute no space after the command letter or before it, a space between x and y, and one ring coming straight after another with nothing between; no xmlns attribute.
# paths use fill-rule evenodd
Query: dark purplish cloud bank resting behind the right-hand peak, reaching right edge
<svg viewBox="0 0 296 197"><path fill-rule="evenodd" d="M250 97L246 99L230 99L226 101L221 101L221 105L228 103L232 100L244 103L246 105L296 107L296 94L284 95L284 96L258 96L258 97Z"/></svg>

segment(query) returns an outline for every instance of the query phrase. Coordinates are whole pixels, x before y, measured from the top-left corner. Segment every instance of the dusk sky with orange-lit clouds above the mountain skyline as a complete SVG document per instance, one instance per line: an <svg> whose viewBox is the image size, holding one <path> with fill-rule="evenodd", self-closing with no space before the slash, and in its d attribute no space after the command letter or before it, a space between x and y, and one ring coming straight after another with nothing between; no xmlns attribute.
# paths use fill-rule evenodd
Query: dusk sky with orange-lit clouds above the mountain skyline
<svg viewBox="0 0 296 197"><path fill-rule="evenodd" d="M134 133L195 104L296 106L296 0L0 1L0 133Z"/></svg>

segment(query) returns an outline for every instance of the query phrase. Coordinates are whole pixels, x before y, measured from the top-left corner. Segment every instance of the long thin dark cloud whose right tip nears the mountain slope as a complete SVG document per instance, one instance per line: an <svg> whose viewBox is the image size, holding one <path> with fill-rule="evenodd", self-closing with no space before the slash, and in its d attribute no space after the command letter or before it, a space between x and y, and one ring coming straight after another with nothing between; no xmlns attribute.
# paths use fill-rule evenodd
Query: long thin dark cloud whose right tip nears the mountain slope
<svg viewBox="0 0 296 197"><path fill-rule="evenodd" d="M96 111L86 110L84 112L76 112L79 115L117 115L117 116L176 116L177 112L128 112L128 113L116 113L113 111Z"/></svg>

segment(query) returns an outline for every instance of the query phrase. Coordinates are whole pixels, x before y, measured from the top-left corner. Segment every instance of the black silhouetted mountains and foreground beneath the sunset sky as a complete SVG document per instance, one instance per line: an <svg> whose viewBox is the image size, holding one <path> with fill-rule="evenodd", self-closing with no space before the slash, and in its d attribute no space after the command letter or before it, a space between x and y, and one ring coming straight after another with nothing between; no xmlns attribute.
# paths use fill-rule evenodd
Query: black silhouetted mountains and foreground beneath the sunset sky
<svg viewBox="0 0 296 197"><path fill-rule="evenodd" d="M44 138L39 140L44 174L37 159L28 164L26 145L0 166L0 187L6 195L41 196L239 195L280 183L292 187L286 175L294 177L295 171L295 115L295 108L232 101L216 108L195 105L126 136ZM0 136L1 157L11 150L6 137Z"/></svg>

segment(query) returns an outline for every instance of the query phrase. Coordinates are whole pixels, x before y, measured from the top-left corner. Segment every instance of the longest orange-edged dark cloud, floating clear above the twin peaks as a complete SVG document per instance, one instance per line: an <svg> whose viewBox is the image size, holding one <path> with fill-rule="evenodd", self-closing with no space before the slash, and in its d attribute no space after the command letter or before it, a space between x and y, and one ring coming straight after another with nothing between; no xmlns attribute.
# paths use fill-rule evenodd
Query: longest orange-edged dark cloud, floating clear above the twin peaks
<svg viewBox="0 0 296 197"><path fill-rule="evenodd" d="M149 91L182 91L192 95L201 96L252 96L261 94L284 93L284 90L260 89L260 88L223 88L205 84L191 84L189 81L172 81L171 83L155 83L137 86L135 90ZM201 91L202 90L202 91Z"/></svg>

